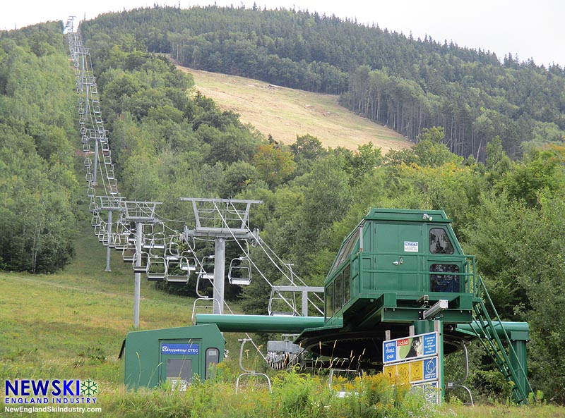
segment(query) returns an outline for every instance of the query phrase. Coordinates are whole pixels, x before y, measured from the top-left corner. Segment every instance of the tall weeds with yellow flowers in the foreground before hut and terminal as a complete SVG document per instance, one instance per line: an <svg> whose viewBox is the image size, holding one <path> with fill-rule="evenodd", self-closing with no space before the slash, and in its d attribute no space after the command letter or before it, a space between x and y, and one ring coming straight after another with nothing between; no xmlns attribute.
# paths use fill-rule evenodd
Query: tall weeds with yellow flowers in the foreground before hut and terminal
<svg viewBox="0 0 565 418"><path fill-rule="evenodd" d="M341 398L327 381L296 371L273 379L273 391L247 388L235 393L234 382L222 379L196 382L186 392L118 391L102 401L107 417L198 417L198 418L337 418L337 417L442 417L444 410L393 387L381 374L363 376L353 391Z"/></svg>

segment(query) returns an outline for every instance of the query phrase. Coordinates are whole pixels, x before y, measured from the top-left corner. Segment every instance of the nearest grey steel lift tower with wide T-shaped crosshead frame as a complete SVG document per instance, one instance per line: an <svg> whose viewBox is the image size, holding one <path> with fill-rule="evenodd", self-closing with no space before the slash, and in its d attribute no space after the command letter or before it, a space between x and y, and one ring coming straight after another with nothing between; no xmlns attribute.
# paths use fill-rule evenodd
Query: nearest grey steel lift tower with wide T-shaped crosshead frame
<svg viewBox="0 0 565 418"><path fill-rule="evenodd" d="M192 202L195 229L184 228L184 238L214 239L214 314L224 311L225 242L226 240L258 240L249 229L251 204L263 204L262 200L206 199L181 197L182 202Z"/></svg>

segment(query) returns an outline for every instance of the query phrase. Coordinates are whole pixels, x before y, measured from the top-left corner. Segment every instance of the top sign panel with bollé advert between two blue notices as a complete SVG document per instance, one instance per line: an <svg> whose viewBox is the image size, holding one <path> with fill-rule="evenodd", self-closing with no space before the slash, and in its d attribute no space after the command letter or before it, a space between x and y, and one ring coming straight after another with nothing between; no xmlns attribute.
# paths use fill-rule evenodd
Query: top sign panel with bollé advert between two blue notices
<svg viewBox="0 0 565 418"><path fill-rule="evenodd" d="M437 355L436 332L383 342L383 363L402 362Z"/></svg>

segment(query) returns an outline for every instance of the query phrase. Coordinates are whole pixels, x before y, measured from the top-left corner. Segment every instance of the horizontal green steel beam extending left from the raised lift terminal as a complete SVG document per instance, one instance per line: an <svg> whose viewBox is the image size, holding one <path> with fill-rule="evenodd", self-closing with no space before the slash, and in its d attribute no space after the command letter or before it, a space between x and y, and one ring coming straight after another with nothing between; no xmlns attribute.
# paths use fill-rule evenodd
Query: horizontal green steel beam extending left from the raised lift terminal
<svg viewBox="0 0 565 418"><path fill-rule="evenodd" d="M216 324L222 332L301 333L320 328L322 316L196 314L196 324Z"/></svg>

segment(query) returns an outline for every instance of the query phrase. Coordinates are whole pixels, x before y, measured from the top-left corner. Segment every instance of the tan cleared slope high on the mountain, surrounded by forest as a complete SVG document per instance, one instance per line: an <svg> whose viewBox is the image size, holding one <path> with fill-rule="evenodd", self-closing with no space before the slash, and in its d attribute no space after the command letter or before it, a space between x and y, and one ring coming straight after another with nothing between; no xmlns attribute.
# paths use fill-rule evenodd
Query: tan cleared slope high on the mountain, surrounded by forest
<svg viewBox="0 0 565 418"><path fill-rule="evenodd" d="M263 135L273 135L276 141L291 144L297 135L310 134L332 148L357 149L357 145L373 142L386 153L388 149L410 146L402 135L340 106L338 96L273 88L249 78L182 69L194 75L196 89L206 97L224 110L239 113L242 122L251 123Z"/></svg>

